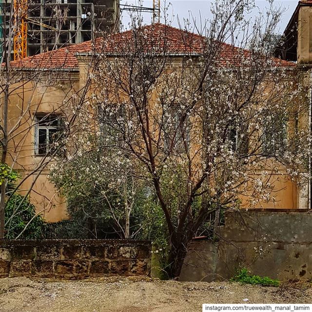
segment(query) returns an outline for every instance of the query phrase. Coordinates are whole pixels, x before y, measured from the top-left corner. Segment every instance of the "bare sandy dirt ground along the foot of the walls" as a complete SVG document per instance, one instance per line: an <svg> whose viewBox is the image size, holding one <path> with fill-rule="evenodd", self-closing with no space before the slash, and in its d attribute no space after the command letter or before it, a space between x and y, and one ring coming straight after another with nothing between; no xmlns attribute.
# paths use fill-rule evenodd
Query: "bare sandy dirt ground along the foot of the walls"
<svg viewBox="0 0 312 312"><path fill-rule="evenodd" d="M0 311L199 312L202 303L312 303L312 288L307 285L287 284L274 288L145 277L80 281L2 278Z"/></svg>

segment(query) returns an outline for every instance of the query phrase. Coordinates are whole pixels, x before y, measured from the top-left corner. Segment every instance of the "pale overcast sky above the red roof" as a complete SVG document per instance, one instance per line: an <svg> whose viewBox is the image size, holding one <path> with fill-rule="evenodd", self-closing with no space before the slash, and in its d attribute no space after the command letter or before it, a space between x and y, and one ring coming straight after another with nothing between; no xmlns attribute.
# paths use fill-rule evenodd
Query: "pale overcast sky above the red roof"
<svg viewBox="0 0 312 312"><path fill-rule="evenodd" d="M263 10L266 7L268 7L267 0L256 0L255 2L260 10ZM138 4L138 0L120 0L120 3L136 5ZM165 1L161 0L161 3L163 6ZM176 27L178 26L178 19L180 21L183 21L183 19L188 19L190 16L190 12L192 12L192 15L196 18L196 20L199 20L200 17L202 18L202 20L205 20L205 18L209 19L210 17L211 0L172 0L172 1L166 0L166 4L168 5L169 3L171 4L170 9L168 11L168 16L169 20L172 20L173 26ZM298 0L275 0L274 3L275 5L281 6L283 9L285 9L285 13L277 29L279 33L283 33L285 27L288 24L288 21L292 17L292 13L294 12L298 4ZM144 0L143 6L153 7L153 0ZM144 14L143 18L147 24L151 22L151 14ZM130 18L128 12L125 11L123 12L122 21L124 25L129 23ZM162 19L162 22L163 21L164 20Z"/></svg>

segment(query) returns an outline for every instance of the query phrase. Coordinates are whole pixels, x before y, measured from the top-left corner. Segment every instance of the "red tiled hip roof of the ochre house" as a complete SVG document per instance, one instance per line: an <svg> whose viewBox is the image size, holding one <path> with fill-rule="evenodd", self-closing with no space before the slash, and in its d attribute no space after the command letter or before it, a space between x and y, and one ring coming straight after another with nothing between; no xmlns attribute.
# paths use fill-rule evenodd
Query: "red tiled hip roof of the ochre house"
<svg viewBox="0 0 312 312"><path fill-rule="evenodd" d="M135 46L135 40L140 39L144 40L142 46L144 46L145 52L149 53L166 51L166 53L174 55L201 54L205 45L205 37L160 23L143 27L140 36L142 37L135 37L134 32L125 31L106 39L98 38L93 43L85 41L12 61L10 64L16 69L78 69L77 54L79 53L123 54L131 51L131 48ZM233 62L240 55L239 51L243 51L243 55L246 57L250 55L248 50L241 50L233 45L222 43L219 54L220 63L226 66L228 62ZM273 65L295 66L293 62L282 59L273 59Z"/></svg>

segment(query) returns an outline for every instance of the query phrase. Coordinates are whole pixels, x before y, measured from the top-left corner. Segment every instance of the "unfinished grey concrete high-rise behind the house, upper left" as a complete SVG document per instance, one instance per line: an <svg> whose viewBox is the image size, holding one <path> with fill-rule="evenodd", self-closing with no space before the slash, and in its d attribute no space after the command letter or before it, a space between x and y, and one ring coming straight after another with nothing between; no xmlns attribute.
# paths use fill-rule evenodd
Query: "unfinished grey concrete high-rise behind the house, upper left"
<svg viewBox="0 0 312 312"><path fill-rule="evenodd" d="M10 25L11 5L16 1L0 0L2 41ZM27 56L118 30L119 0L32 0L27 1L26 10Z"/></svg>

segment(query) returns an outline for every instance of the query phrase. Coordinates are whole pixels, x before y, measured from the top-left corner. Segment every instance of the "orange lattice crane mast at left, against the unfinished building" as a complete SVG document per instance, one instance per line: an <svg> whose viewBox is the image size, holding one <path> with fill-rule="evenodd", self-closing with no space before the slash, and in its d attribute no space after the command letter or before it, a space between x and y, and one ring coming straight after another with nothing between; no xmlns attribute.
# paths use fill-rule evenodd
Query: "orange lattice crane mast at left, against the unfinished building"
<svg viewBox="0 0 312 312"><path fill-rule="evenodd" d="M14 60L27 56L27 0L14 0Z"/></svg>

